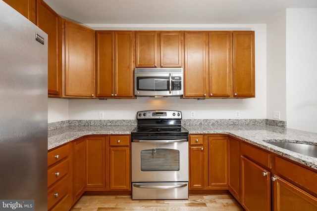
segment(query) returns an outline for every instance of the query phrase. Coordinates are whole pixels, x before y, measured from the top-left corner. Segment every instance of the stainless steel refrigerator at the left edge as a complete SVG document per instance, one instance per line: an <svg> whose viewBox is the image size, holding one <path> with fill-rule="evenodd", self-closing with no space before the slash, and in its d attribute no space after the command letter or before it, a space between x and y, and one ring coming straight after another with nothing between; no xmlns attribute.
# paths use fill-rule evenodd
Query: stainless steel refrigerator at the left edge
<svg viewBox="0 0 317 211"><path fill-rule="evenodd" d="M47 81L47 35L0 0L0 211L47 210Z"/></svg>

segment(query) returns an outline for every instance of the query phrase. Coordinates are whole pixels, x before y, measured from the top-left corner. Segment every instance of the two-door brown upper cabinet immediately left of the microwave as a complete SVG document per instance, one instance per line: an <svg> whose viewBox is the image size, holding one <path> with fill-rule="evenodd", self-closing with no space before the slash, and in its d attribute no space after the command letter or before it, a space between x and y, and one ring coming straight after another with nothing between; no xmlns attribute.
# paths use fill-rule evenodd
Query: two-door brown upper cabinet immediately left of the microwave
<svg viewBox="0 0 317 211"><path fill-rule="evenodd" d="M134 98L134 32L97 31L97 97Z"/></svg>

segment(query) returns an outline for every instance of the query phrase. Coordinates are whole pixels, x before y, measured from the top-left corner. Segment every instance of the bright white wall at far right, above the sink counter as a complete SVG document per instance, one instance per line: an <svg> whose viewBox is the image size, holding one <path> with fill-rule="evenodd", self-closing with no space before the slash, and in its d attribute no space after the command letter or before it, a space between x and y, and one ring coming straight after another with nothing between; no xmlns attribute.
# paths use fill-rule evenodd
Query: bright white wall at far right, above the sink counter
<svg viewBox="0 0 317 211"><path fill-rule="evenodd" d="M287 127L317 132L317 8L286 9Z"/></svg>

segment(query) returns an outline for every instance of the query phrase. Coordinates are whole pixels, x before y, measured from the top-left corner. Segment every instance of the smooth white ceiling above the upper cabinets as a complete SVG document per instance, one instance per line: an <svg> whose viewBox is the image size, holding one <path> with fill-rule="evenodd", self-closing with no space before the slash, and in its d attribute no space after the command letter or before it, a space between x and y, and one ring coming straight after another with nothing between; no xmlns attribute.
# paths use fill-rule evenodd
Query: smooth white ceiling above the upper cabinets
<svg viewBox="0 0 317 211"><path fill-rule="evenodd" d="M285 8L317 0L45 0L82 24L261 24Z"/></svg>

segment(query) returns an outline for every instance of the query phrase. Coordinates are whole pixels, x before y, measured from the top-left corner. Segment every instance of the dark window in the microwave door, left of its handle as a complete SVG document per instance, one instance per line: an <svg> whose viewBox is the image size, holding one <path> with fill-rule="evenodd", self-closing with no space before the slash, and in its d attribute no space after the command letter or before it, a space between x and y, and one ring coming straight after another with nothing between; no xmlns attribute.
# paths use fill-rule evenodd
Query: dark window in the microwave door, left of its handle
<svg viewBox="0 0 317 211"><path fill-rule="evenodd" d="M168 77L137 77L138 90L165 91L168 83Z"/></svg>

